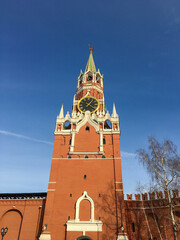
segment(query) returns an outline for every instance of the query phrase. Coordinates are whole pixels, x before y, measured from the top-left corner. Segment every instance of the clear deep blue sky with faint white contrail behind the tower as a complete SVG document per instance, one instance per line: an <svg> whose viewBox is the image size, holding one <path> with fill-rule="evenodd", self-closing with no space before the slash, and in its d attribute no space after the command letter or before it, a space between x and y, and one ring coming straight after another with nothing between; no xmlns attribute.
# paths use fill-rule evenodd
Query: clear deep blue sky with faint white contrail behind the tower
<svg viewBox="0 0 180 240"><path fill-rule="evenodd" d="M124 192L148 176L148 136L180 146L178 0L0 3L0 192L46 191L56 116L71 111L88 44L120 117Z"/></svg>

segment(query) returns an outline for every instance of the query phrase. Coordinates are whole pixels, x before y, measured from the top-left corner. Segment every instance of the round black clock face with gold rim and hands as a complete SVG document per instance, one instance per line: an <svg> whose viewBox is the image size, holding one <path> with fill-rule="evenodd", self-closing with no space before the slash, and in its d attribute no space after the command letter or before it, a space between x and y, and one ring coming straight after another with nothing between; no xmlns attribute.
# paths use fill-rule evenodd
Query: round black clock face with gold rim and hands
<svg viewBox="0 0 180 240"><path fill-rule="evenodd" d="M78 109L81 112L90 111L91 113L97 111L99 108L99 102L94 97L84 97L78 103Z"/></svg>

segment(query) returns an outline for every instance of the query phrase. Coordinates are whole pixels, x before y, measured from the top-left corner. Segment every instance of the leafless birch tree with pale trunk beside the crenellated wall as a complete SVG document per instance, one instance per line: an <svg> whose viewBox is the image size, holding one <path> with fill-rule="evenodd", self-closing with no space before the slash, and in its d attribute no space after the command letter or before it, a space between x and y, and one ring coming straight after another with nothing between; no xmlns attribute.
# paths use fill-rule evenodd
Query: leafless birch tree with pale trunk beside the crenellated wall
<svg viewBox="0 0 180 240"><path fill-rule="evenodd" d="M151 137L148 142L149 148L147 151L145 149L137 151L138 158L150 173L157 187L167 193L174 240L177 240L179 223L175 219L175 202L171 195L171 190L179 189L180 187L180 156L177 152L177 147L170 140L160 143Z"/></svg>

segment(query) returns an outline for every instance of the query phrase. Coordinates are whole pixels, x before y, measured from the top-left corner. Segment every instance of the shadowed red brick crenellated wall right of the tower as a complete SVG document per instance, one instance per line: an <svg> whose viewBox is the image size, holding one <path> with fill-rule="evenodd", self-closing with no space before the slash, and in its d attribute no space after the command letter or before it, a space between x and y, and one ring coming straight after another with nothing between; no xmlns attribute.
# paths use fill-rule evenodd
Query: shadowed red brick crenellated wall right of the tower
<svg viewBox="0 0 180 240"><path fill-rule="evenodd" d="M178 190L172 191L171 195L173 197L175 220L178 221L180 219ZM129 240L174 239L167 192L127 194L125 211ZM178 239L180 239L180 235L178 235Z"/></svg>

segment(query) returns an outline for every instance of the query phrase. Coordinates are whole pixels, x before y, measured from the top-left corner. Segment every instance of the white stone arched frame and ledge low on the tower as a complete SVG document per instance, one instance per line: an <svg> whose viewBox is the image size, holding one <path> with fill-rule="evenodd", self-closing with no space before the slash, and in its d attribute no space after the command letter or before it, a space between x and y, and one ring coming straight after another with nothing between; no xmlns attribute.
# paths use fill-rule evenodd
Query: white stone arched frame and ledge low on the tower
<svg viewBox="0 0 180 240"><path fill-rule="evenodd" d="M80 203L83 200L88 200L91 203L91 218L89 221L80 221L79 219L79 208ZM102 231L102 221L94 219L94 201L91 197L88 196L87 192L84 191L83 195L76 202L76 210L75 210L75 219L68 220L66 222L67 231L78 231L78 232L101 232Z"/></svg>

